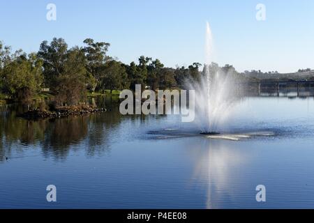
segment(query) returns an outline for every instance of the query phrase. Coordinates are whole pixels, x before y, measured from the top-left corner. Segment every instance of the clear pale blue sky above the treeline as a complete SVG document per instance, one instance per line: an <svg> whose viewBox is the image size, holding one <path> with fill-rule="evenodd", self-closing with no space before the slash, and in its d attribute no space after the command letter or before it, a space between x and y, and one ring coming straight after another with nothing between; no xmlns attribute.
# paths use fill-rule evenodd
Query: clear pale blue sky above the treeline
<svg viewBox="0 0 314 223"><path fill-rule="evenodd" d="M46 20L47 3L57 21ZM266 21L255 19L257 3ZM214 34L216 61L239 71L294 72L314 68L314 1L211 0L0 0L0 40L36 52L43 40L85 38L111 44L110 56L137 61L141 55L166 66L204 63L206 21Z"/></svg>

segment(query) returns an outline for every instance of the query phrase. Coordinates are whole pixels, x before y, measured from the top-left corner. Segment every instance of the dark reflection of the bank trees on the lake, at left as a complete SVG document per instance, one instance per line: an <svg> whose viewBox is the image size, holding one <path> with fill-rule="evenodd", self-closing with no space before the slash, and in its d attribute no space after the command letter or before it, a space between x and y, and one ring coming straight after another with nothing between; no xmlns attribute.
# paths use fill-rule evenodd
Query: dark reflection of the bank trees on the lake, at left
<svg viewBox="0 0 314 223"><path fill-rule="evenodd" d="M105 107L107 112L27 121L16 117L20 106L1 106L0 162L10 157L13 150L22 152L36 146L41 148L44 157L52 155L57 160L66 158L70 150L82 148L89 156L105 153L110 149L107 141L126 117L119 113L117 98L99 97L93 99L92 103Z"/></svg>

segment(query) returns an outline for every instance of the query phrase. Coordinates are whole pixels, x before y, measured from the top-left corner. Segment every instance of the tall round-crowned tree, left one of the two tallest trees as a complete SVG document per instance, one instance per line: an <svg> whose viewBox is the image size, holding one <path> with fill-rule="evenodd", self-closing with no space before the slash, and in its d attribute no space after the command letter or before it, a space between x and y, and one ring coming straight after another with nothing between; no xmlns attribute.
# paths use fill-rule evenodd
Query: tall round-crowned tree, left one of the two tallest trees
<svg viewBox="0 0 314 223"><path fill-rule="evenodd" d="M47 40L40 44L38 57L43 59L43 75L46 87L55 85L54 81L63 72L67 52L68 45L63 38L53 38L50 45L48 45Z"/></svg>

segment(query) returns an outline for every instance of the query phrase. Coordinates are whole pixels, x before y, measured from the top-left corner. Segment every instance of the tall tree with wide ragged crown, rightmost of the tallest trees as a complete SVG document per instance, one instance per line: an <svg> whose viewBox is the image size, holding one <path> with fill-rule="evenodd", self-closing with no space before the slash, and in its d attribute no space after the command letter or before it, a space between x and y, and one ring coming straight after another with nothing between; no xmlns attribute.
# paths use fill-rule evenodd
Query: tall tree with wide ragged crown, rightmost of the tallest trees
<svg viewBox="0 0 314 223"><path fill-rule="evenodd" d="M110 43L105 42L96 42L91 38L87 38L84 42L87 46L83 48L85 56L87 57L87 70L94 77L95 82L91 86L92 91L95 91L100 80L103 77L103 68L102 66L106 61L110 60L110 57L107 56L108 47Z"/></svg>

